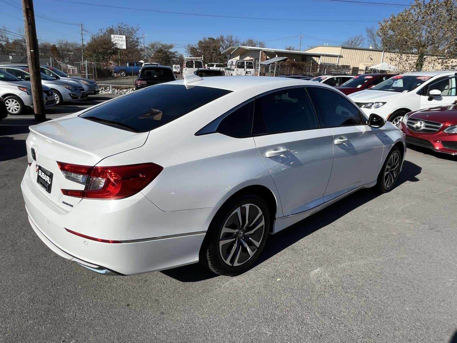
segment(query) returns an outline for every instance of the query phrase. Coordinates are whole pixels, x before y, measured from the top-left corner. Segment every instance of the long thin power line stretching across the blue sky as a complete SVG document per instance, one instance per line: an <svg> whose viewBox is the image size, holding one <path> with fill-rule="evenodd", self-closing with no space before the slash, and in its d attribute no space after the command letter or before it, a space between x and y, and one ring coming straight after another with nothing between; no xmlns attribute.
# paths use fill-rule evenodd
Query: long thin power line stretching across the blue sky
<svg viewBox="0 0 457 343"><path fill-rule="evenodd" d="M89 2L72 1L72 0L55 0L55 1L69 2L69 3L72 3L72 4L79 4L79 5L109 7L109 8L116 8L116 9L120 9L120 10L147 11L147 12L155 12L155 13L180 14L180 15L186 15L186 16L209 16L209 17L230 18L230 19L276 20L276 21L319 21L319 22L327 22L327 21L330 21L330 22L378 22L378 20L290 19L290 18L260 18L260 17L249 17L249 16L221 16L221 15L216 15L216 14L171 12L171 11L150 10L150 9L146 9L146 8L133 8L133 7L123 7L123 6L113 6L113 5L99 5L99 4L91 4Z"/></svg>

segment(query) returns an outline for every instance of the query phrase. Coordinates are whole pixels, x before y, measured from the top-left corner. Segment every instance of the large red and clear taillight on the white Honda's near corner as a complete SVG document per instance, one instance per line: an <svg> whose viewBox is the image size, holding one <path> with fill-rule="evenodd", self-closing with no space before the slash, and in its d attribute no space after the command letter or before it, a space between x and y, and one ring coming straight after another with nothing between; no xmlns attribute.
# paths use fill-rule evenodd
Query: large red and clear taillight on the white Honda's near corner
<svg viewBox="0 0 457 343"><path fill-rule="evenodd" d="M164 169L155 163L91 167L57 162L67 180L85 185L84 190L61 189L76 198L121 199L138 193Z"/></svg>

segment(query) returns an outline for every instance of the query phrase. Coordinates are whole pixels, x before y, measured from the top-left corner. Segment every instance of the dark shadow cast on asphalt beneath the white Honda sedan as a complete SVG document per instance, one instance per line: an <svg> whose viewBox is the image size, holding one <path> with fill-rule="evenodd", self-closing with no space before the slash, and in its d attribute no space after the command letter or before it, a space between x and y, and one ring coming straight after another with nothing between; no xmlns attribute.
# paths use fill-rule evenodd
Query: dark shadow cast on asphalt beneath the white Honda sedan
<svg viewBox="0 0 457 343"><path fill-rule="evenodd" d="M397 179L395 188L399 187L404 182L417 182L419 179L417 175L420 174L422 168L410 161L404 161L403 169ZM305 238L323 228L326 225L333 223L340 217L348 214L357 207L377 198L382 195L374 189L362 189L356 193L347 196L344 200L338 201L329 207L322 209L309 216L308 218L299 221L298 223L276 233L274 239L266 241L266 245L260 254L257 261L253 264L252 268L265 262L269 258L275 256L277 253L296 243L297 241ZM217 277L218 275L211 273L207 268L199 263L191 264L188 266L168 269L162 271L167 276L181 282L197 282L206 279ZM452 342L454 343L454 342ZM457 342L455 342L457 343Z"/></svg>

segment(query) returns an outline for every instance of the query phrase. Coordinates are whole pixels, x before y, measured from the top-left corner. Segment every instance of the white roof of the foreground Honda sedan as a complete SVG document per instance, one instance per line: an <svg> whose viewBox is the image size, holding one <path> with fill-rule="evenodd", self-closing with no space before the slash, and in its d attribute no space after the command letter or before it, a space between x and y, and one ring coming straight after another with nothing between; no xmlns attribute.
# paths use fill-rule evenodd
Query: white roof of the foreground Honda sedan
<svg viewBox="0 0 457 343"><path fill-rule="evenodd" d="M292 86L319 86L329 89L334 87L316 82L300 79L291 79L287 77L270 77L270 76L223 76L223 77L208 77L202 80L186 83L185 80L177 80L169 82L169 84L181 84L189 86L205 86L213 88L226 89L233 92L242 92L247 89L256 89L256 91L266 92L282 87Z"/></svg>

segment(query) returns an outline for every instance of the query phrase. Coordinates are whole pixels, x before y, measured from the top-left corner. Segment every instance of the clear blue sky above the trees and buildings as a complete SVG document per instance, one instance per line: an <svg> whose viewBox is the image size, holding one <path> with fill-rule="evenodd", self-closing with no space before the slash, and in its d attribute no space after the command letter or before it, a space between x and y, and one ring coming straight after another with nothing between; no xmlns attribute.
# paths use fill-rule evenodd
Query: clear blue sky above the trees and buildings
<svg viewBox="0 0 457 343"><path fill-rule="evenodd" d="M78 0L75 0L76 2ZM80 0L99 5L113 5L138 8L138 10L115 9L77 4L73 1L35 0L37 15L70 23L83 23L85 30L97 32L118 22L125 22L140 27L140 34L147 34L146 44L152 41L174 43L176 50L184 53L184 45L197 43L202 37L217 37L221 34L233 34L241 40L255 38L266 42L268 48L298 47L302 35L302 50L307 46L338 45L346 38L356 34L365 35L365 28L377 26L377 21L398 13L406 8L406 0L366 0L369 2L389 2L405 4L361 5L329 0L250 0L250 1L97 1ZM358 0L356 0L358 1ZM18 0L5 0L21 5ZM1 25L16 32L23 28L21 10L0 2ZM329 22L280 21L189 16L181 14L142 11L141 8L157 11L187 12L223 16L249 16L263 18L315 19ZM334 22L335 20L359 20L362 22ZM80 28L45 20L36 16L38 38L55 42L57 39L81 41ZM84 39L90 39L90 33L84 33Z"/></svg>

